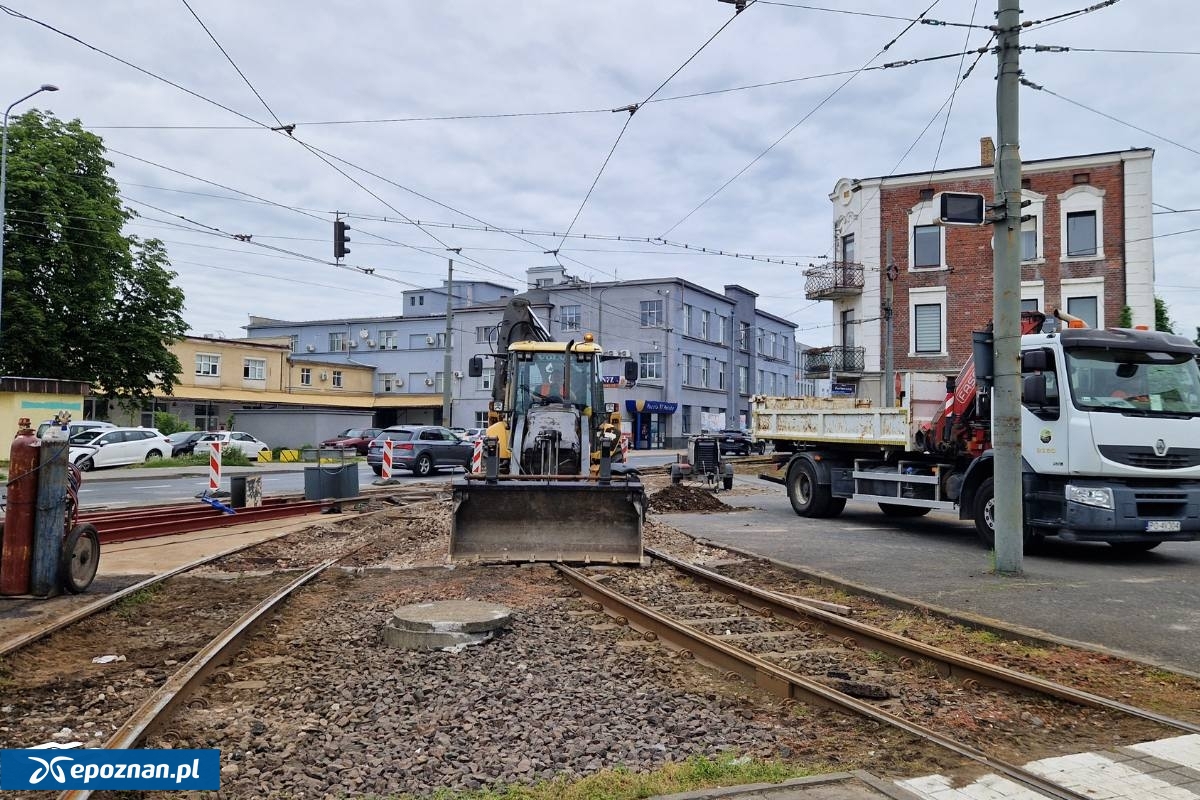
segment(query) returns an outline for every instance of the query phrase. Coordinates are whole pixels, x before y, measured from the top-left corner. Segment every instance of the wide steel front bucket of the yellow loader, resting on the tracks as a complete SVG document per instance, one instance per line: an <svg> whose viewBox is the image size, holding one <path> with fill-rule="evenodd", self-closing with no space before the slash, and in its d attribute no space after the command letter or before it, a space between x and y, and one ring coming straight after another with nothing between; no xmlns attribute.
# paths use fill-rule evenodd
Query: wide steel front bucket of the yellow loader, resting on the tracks
<svg viewBox="0 0 1200 800"><path fill-rule="evenodd" d="M641 564L644 519L636 476L470 475L454 486L450 559Z"/></svg>

